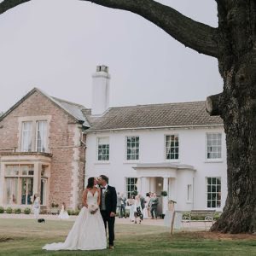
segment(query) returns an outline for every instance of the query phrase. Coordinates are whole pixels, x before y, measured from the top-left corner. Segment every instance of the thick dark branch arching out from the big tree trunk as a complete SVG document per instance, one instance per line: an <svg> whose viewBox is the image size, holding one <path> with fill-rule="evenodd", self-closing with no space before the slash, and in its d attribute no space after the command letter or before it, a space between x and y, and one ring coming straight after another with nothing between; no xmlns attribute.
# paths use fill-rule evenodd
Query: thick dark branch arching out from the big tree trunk
<svg viewBox="0 0 256 256"><path fill-rule="evenodd" d="M199 53L218 58L218 29L180 14L153 0L80 0L123 9L153 22L180 43Z"/></svg>

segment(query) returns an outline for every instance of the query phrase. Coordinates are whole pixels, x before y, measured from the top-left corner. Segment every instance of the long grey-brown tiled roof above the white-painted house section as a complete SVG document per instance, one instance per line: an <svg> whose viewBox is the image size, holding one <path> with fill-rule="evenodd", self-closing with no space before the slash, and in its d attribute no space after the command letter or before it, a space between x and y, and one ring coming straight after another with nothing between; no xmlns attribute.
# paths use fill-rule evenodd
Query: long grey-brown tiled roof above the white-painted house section
<svg viewBox="0 0 256 256"><path fill-rule="evenodd" d="M205 102L109 108L101 117L91 115L90 109L83 112L90 123L87 131L223 125L222 119L207 113Z"/></svg>

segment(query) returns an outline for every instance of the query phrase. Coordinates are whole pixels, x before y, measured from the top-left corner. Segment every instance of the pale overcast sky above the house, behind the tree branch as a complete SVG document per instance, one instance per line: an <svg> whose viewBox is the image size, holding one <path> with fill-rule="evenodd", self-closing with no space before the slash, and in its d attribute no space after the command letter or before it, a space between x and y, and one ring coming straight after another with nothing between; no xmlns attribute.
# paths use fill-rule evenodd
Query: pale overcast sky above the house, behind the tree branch
<svg viewBox="0 0 256 256"><path fill-rule="evenodd" d="M0 0L1 2L1 0ZM215 1L162 0L218 26ZM218 62L138 15L76 0L33 0L0 15L0 111L33 87L91 106L91 74L109 67L110 105L203 101L222 90Z"/></svg>

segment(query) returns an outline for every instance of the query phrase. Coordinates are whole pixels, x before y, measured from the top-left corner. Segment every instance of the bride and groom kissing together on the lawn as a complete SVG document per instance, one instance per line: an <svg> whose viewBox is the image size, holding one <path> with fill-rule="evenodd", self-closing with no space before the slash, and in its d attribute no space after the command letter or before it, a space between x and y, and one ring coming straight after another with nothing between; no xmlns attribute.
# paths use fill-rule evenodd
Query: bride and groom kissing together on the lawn
<svg viewBox="0 0 256 256"><path fill-rule="evenodd" d="M108 177L89 177L83 194L83 205L64 242L55 242L43 247L45 250L102 250L108 245L113 249L114 221L117 195L108 185Z"/></svg>

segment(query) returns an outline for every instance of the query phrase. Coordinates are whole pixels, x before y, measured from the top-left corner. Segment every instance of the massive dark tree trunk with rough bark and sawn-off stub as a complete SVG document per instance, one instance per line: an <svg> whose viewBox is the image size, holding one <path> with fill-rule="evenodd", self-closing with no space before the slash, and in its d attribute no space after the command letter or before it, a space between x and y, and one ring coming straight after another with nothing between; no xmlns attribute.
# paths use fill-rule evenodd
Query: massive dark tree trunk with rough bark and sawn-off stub
<svg viewBox="0 0 256 256"><path fill-rule="evenodd" d="M212 114L224 120L228 197L212 231L256 231L256 49L255 1L218 1L219 71L222 95L212 96ZM209 100L209 99L208 99ZM209 101L207 101L209 102Z"/></svg>

